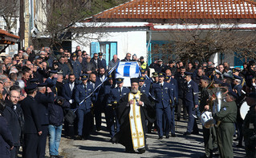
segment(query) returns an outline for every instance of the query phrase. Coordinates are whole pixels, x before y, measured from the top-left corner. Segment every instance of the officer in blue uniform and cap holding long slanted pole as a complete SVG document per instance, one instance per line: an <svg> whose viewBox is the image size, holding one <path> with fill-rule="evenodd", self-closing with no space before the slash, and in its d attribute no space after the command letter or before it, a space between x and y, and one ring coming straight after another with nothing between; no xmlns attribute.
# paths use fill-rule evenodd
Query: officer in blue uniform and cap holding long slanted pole
<svg viewBox="0 0 256 158"><path fill-rule="evenodd" d="M92 85L87 83L88 76L83 74L81 77L82 83L76 85L75 88L75 102L76 102L76 115L78 119L78 136L75 137L77 140L82 140L82 136L89 136L91 127L91 97L90 95L93 91ZM85 120L85 121L84 121ZM84 129L84 130L83 130ZM83 132L84 131L84 132Z"/></svg>

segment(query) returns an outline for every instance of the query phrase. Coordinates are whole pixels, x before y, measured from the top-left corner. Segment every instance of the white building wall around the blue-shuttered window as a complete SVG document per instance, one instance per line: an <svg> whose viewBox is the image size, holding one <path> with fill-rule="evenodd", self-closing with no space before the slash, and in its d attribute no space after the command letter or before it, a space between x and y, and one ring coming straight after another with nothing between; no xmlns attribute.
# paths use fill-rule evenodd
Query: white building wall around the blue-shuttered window
<svg viewBox="0 0 256 158"><path fill-rule="evenodd" d="M84 41L81 45L81 42L78 40L72 40L72 52L75 51L75 47L80 45L82 50L90 53L90 43L92 41L117 41L117 56L118 58L124 59L126 53L136 53L137 57L147 56L147 31L146 30L120 30L116 32L107 32L103 38L99 40L87 40L86 37L97 38L97 35L87 34L83 36L83 39L79 41ZM111 57L112 58L112 57Z"/></svg>

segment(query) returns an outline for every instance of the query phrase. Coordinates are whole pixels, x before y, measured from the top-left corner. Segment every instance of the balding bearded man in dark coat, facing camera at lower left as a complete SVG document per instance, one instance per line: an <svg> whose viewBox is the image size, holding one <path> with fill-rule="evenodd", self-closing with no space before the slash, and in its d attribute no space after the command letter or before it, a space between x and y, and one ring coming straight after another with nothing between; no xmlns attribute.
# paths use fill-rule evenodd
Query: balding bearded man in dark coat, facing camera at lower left
<svg viewBox="0 0 256 158"><path fill-rule="evenodd" d="M15 158L18 156L18 149L21 145L20 140L22 136L22 118L19 117L18 113L22 113L18 100L20 93L16 90L10 91L10 96L6 100L6 109L4 109L4 117L7 120L8 128L10 129L13 137L14 149L10 151L10 157Z"/></svg>

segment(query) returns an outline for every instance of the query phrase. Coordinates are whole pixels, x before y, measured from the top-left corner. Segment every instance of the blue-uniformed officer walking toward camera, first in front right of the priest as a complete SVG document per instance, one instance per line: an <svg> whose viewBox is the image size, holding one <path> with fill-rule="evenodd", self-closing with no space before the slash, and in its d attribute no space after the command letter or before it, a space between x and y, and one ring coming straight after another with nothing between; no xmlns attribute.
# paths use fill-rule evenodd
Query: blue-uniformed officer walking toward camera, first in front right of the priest
<svg viewBox="0 0 256 158"><path fill-rule="evenodd" d="M159 73L158 77L165 77L165 73ZM175 89L167 82L154 83L150 89L152 96L156 98L156 124L159 139L163 138L163 115L166 116L165 136L169 138L169 130L171 123L171 107L174 107L174 94ZM174 134L174 133L173 133Z"/></svg>

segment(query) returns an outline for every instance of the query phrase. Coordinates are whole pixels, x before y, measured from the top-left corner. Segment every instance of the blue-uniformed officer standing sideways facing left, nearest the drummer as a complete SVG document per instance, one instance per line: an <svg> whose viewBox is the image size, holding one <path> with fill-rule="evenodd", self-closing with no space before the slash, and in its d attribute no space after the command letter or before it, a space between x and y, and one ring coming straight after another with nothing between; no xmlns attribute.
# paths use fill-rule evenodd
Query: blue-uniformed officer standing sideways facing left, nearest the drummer
<svg viewBox="0 0 256 158"><path fill-rule="evenodd" d="M189 113L189 122L187 131L184 136L198 134L197 121L195 120L196 110L198 107L198 85L192 80L193 73L185 72L185 107Z"/></svg>

